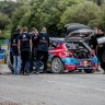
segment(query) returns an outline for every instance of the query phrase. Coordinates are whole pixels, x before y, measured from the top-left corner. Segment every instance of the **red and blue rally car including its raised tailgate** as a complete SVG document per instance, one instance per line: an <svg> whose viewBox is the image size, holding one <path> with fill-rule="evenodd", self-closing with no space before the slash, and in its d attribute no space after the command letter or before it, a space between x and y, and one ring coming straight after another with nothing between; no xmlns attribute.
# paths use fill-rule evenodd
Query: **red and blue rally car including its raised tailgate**
<svg viewBox="0 0 105 105"><path fill-rule="evenodd" d="M65 70L84 70L86 73L97 69L97 57L91 49L90 37L94 31L80 23L66 25L65 38L50 38L56 46L49 47L48 66L55 73Z"/></svg>

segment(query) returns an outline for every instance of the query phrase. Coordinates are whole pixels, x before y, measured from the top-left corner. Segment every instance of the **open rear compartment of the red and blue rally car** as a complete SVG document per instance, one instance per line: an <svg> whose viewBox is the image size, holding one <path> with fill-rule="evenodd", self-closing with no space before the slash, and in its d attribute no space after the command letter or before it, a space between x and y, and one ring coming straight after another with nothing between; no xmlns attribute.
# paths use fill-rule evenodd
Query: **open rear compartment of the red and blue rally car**
<svg viewBox="0 0 105 105"><path fill-rule="evenodd" d="M68 42L66 46L77 59L90 59L91 57L91 49L84 42Z"/></svg>

